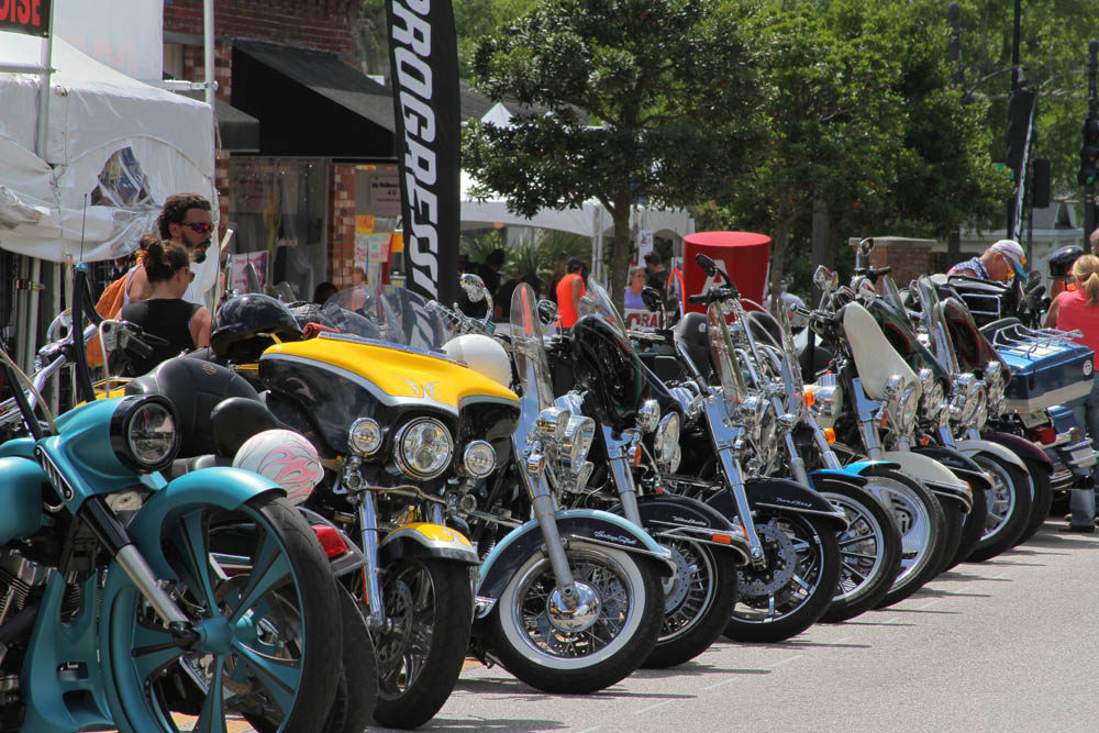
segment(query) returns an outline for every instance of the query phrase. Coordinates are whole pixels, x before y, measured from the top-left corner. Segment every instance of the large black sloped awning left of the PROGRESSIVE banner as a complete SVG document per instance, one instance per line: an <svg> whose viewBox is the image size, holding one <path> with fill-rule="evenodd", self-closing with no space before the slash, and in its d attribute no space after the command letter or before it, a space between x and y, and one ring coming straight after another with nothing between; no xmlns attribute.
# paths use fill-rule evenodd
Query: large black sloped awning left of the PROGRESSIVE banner
<svg viewBox="0 0 1099 733"><path fill-rule="evenodd" d="M334 54L235 41L232 89L233 107L260 122L260 155L395 155L390 90Z"/></svg>

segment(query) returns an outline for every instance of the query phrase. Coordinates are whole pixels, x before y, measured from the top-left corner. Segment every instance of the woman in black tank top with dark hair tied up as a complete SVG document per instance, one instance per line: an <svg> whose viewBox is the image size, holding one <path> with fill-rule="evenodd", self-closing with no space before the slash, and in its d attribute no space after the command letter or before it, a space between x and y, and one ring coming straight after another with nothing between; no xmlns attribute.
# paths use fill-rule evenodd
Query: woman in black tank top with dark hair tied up
<svg viewBox="0 0 1099 733"><path fill-rule="evenodd" d="M159 340L148 358L132 358L127 376L152 370L181 352L210 344L210 311L206 306L184 300L195 279L187 248L175 242L148 242L142 267L148 278L151 296L122 309L122 320L136 323L145 333Z"/></svg>

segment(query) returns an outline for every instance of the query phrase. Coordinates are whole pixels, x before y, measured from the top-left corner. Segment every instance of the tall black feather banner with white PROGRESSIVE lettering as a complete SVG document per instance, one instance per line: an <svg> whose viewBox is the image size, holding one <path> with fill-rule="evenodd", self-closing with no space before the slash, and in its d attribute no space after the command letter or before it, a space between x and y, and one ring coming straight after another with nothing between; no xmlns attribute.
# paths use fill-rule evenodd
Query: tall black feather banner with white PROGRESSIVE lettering
<svg viewBox="0 0 1099 733"><path fill-rule="evenodd" d="M451 0L387 0L389 60L410 290L458 290L458 53Z"/></svg>

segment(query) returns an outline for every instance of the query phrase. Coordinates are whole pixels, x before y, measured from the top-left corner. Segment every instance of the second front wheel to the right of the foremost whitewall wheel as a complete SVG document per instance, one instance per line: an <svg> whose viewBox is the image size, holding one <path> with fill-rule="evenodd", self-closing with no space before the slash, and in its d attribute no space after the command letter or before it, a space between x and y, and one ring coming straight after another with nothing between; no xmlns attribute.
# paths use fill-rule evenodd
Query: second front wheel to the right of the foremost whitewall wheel
<svg viewBox="0 0 1099 733"><path fill-rule="evenodd" d="M766 566L737 570L740 598L725 636L780 642L800 634L828 610L840 579L840 545L835 530L812 514L762 508L754 519Z"/></svg>

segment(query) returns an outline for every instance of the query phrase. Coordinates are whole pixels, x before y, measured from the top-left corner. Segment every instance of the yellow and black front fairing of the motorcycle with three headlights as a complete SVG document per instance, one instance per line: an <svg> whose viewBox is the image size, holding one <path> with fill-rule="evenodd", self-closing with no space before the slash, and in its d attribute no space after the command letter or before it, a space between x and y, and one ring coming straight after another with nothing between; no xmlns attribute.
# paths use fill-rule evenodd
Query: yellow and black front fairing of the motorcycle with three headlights
<svg viewBox="0 0 1099 733"><path fill-rule="evenodd" d="M306 417L337 455L348 452L347 430L359 418L388 430L408 415L434 414L456 431L456 447L469 440L496 445L519 418L514 392L442 353L340 334L269 347L259 379L276 415Z"/></svg>

